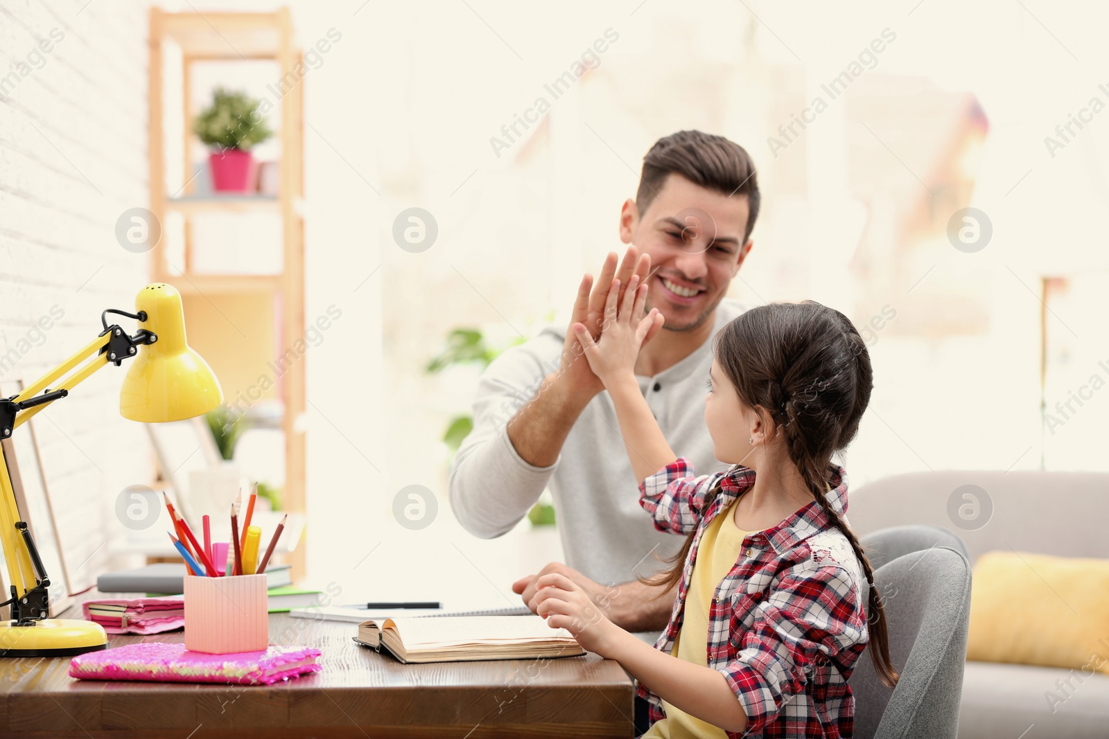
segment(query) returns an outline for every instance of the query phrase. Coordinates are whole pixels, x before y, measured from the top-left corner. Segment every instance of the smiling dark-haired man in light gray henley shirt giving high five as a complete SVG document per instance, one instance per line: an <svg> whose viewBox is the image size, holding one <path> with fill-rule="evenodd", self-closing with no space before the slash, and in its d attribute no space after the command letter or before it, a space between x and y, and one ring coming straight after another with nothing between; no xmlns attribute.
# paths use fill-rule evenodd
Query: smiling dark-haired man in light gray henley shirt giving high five
<svg viewBox="0 0 1109 739"><path fill-rule="evenodd" d="M619 271L610 254L596 284L586 275L570 320L599 337L613 279L621 291L633 274L645 279L648 310L659 308L664 322L648 335L635 374L668 441L702 474L724 468L704 424L711 339L743 311L724 295L751 250L759 201L754 164L741 146L698 131L659 140L643 158L635 199L620 212L620 239L631 246ZM568 564L551 563L513 589L535 609L531 583L560 572L622 628L658 632L674 598L637 577L655 573L682 537L654 530L639 505L639 482L581 346L572 332L548 327L482 376L449 494L461 524L492 538L550 487Z"/></svg>

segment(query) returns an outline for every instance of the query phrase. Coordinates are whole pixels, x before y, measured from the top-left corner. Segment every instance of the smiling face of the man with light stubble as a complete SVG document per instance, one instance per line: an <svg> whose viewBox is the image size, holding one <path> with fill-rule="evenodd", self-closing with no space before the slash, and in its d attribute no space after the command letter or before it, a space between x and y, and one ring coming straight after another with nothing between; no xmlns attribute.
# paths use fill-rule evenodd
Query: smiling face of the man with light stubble
<svg viewBox="0 0 1109 739"><path fill-rule="evenodd" d="M647 309L659 309L663 328L689 331L712 316L751 249L743 240L747 215L746 195L729 197L678 174L644 213L624 203L620 238L651 255Z"/></svg>

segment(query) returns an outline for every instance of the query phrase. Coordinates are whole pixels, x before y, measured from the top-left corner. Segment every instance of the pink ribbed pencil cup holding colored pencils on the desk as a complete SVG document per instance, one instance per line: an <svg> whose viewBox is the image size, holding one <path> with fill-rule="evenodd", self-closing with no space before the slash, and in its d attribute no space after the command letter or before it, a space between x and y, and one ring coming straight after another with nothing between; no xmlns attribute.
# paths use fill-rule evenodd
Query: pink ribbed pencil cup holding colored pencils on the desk
<svg viewBox="0 0 1109 739"><path fill-rule="evenodd" d="M269 646L265 575L185 575L185 648L225 655Z"/></svg>

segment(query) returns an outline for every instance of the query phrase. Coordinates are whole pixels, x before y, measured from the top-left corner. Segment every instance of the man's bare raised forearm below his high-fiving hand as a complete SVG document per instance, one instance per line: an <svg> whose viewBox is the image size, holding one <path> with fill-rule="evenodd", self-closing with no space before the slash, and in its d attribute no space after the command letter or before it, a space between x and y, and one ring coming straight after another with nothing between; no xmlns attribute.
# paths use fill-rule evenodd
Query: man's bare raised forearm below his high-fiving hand
<svg viewBox="0 0 1109 739"><path fill-rule="evenodd" d="M554 464L587 404L589 398L569 392L558 372L548 374L536 397L508 422L508 439L516 453L535 466Z"/></svg>

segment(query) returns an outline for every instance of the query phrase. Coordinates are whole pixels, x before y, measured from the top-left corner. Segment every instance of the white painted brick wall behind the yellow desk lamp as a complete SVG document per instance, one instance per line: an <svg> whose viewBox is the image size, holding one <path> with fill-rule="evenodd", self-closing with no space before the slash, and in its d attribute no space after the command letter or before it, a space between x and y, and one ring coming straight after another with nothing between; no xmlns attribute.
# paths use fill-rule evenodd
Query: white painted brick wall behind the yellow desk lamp
<svg viewBox="0 0 1109 739"><path fill-rule="evenodd" d="M95 337L101 310L133 310L149 281L149 257L114 235L123 211L147 205L146 33L139 3L0 0L0 358L20 355L0 382L40 376ZM151 480L145 431L119 414L125 369L100 370L33 421L77 591L108 567L119 492Z"/></svg>

